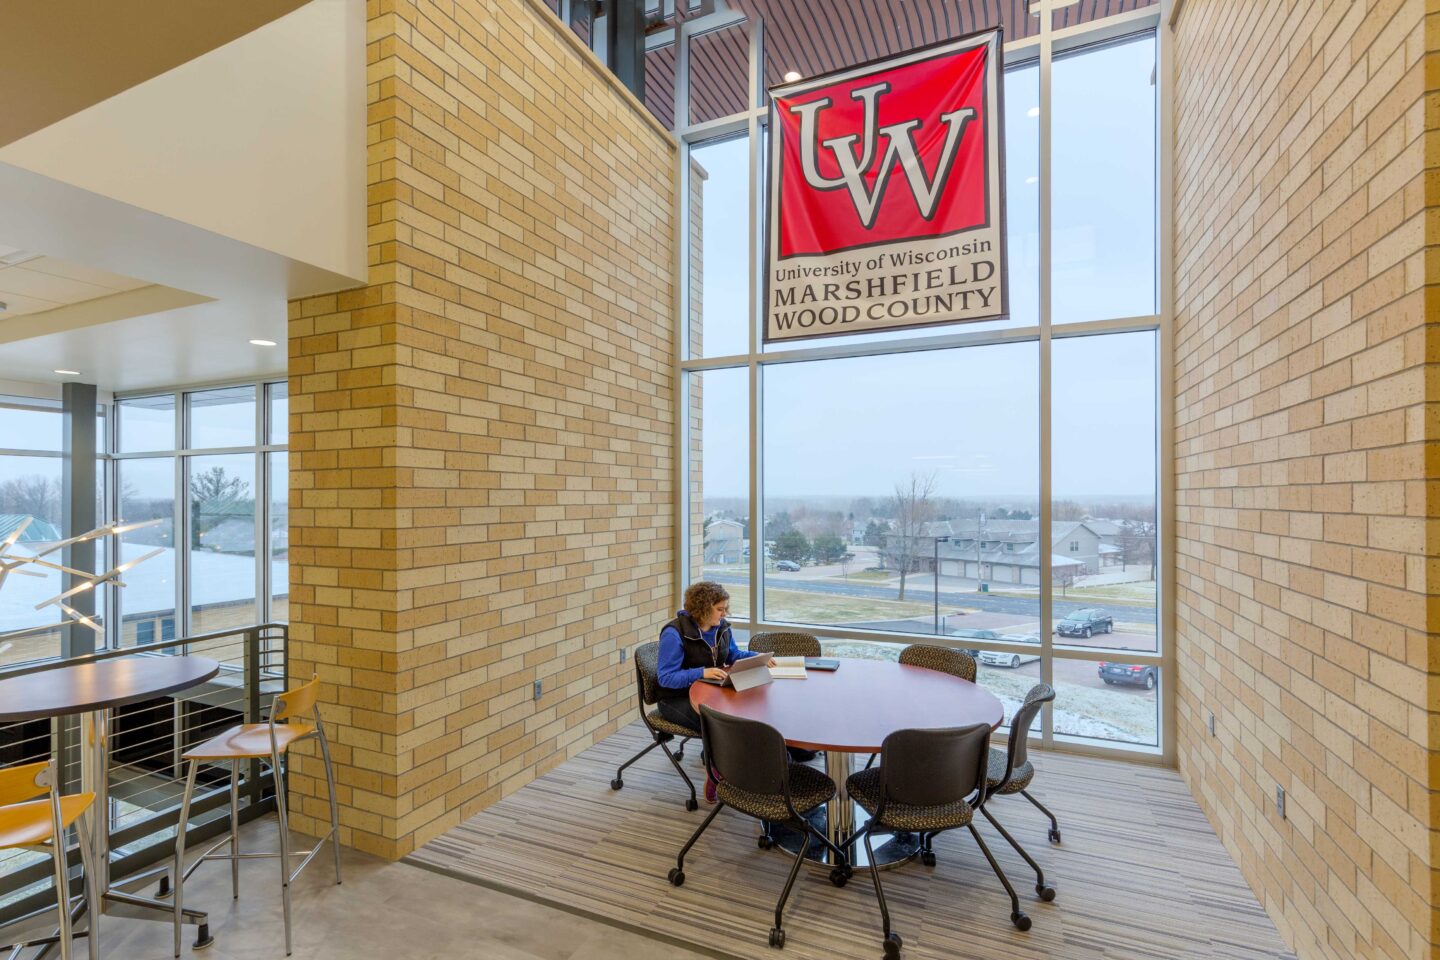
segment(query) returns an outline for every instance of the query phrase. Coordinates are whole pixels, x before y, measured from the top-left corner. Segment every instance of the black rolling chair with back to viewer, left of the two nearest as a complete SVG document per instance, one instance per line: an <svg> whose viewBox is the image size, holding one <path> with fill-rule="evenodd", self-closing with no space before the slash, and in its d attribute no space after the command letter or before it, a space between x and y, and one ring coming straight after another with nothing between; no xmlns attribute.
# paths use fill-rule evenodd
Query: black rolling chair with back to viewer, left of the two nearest
<svg viewBox="0 0 1440 960"><path fill-rule="evenodd" d="M819 841L835 853L837 866L829 872L832 884L844 887L851 877L845 853L805 819L806 813L835 796L835 782L815 767L791 763L780 731L757 720L729 717L701 707L700 734L706 744L706 757L719 779L716 794L720 799L675 856L675 865L667 879L675 887L685 882L685 853L716 815L727 806L757 820L786 823L799 830L804 836L801 849L791 864L791 875L785 881L785 889L780 891L780 900L775 904L775 925L770 927L770 946L783 947L785 928L780 918L785 901L795 887L795 875L805 862L811 839Z"/></svg>

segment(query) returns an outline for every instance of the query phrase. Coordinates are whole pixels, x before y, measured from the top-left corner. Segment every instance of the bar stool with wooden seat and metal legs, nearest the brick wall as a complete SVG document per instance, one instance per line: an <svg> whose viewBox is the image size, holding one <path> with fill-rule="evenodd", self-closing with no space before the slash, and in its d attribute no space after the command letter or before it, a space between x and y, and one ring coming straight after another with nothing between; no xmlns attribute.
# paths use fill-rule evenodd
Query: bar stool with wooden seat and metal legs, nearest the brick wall
<svg viewBox="0 0 1440 960"><path fill-rule="evenodd" d="M320 705L315 702L320 698L320 678L312 676L308 684L295 687L294 689L287 689L284 694L275 695L275 704L271 710L271 717L268 723L262 724L240 724L238 727L230 727L219 737L213 737L199 747L189 750L183 760L189 761L189 770L186 771L184 783L184 799L180 802L180 826L176 830L176 862L174 862L174 930L176 930L176 956L180 956L180 925L183 918L181 894L184 888L184 879L194 872L194 869L209 859L230 861L230 887L233 897L239 900L240 897L240 861L242 859L261 859L261 858L279 858L279 879L281 879L281 898L285 907L285 956L291 953L291 928L289 928L289 885L300 877L300 871L310 865L310 861L315 858L320 848L325 845L328 839L336 855L336 882L340 882L340 815L336 807L336 777L330 767L330 743L325 740L325 727L320 720ZM297 720L310 714L314 723L305 723ZM279 721L287 723L279 723ZM285 784L281 776L281 757L288 757L289 747L294 744L315 737L320 740L320 757L325 764L325 784L330 787L330 832L321 836L315 845L308 851L289 851L289 818L287 815L285 802ZM230 761L230 833L229 836L220 839L207 849L199 859L190 864L189 869L184 865L184 830L186 825L190 822L190 797L194 794L194 777L200 769L202 761ZM275 777L275 812L279 815L279 852L265 852L265 853L242 853L240 852L240 761L243 760L268 760L271 770ZM229 853L216 853L219 848L229 845ZM300 862L294 871L289 869L289 858L300 856L304 853L305 859Z"/></svg>

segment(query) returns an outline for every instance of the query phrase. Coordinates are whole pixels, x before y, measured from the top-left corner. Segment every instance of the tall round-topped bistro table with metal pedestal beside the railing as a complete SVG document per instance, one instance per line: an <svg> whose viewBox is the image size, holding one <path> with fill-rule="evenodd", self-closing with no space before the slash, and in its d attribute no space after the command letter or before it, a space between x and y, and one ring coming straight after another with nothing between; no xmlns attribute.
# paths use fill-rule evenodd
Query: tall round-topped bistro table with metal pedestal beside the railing
<svg viewBox="0 0 1440 960"><path fill-rule="evenodd" d="M157 920L171 923L174 907L148 897L135 897L109 887L109 711L196 687L220 671L209 656L125 656L56 666L0 679L0 724L24 720L81 715L81 783L95 794L89 830L99 877L95 887L101 902L128 904L160 911ZM209 917L184 911L186 923L199 927L196 947L209 946Z"/></svg>

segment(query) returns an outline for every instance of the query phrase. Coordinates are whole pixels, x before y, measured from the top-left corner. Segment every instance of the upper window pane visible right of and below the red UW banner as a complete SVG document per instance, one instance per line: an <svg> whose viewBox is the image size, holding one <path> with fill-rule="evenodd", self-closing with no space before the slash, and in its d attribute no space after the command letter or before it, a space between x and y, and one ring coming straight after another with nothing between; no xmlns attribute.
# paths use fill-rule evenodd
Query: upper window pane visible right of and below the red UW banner
<svg viewBox="0 0 1440 960"><path fill-rule="evenodd" d="M1005 71L1005 255L1009 258L1009 317L946 327L920 327L848 337L786 340L765 350L816 344L865 344L1040 324L1040 68ZM713 351L711 351L713 356Z"/></svg>

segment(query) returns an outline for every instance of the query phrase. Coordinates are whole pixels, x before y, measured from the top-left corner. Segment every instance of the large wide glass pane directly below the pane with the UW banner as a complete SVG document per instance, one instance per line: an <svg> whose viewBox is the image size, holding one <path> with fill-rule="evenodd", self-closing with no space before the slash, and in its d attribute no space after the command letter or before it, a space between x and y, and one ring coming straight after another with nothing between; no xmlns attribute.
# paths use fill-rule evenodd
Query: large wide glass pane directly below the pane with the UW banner
<svg viewBox="0 0 1440 960"><path fill-rule="evenodd" d="M766 619L1038 643L1037 377L1034 343L766 368Z"/></svg>

